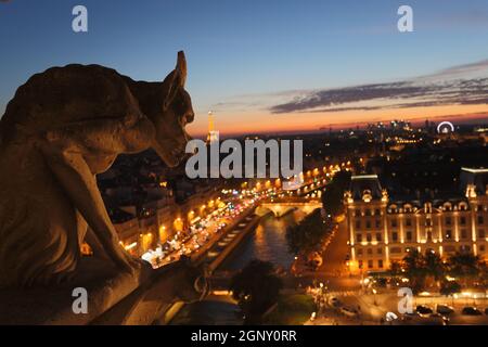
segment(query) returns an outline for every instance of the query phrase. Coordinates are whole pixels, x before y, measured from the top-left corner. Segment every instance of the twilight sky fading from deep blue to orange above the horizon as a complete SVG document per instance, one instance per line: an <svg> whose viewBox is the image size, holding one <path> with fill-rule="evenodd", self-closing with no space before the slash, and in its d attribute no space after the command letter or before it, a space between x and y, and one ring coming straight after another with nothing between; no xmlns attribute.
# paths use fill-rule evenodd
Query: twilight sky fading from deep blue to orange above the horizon
<svg viewBox="0 0 488 347"><path fill-rule="evenodd" d="M72 30L76 4L88 33ZM414 33L397 30L400 4L413 8ZM0 115L50 66L162 80L182 49L193 134L209 110L224 134L488 119L486 0L2 0L0 42Z"/></svg>

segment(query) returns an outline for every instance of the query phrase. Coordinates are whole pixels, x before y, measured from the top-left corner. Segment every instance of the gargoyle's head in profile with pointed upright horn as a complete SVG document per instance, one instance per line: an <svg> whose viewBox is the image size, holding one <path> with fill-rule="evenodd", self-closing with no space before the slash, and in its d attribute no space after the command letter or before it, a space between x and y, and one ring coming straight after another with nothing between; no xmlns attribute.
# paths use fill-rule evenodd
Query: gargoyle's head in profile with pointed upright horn
<svg viewBox="0 0 488 347"><path fill-rule="evenodd" d="M153 149L170 167L185 157L184 147L190 136L184 126L194 118L192 100L184 90L187 60L180 51L176 68L163 81L162 114L152 119L156 128Z"/></svg>

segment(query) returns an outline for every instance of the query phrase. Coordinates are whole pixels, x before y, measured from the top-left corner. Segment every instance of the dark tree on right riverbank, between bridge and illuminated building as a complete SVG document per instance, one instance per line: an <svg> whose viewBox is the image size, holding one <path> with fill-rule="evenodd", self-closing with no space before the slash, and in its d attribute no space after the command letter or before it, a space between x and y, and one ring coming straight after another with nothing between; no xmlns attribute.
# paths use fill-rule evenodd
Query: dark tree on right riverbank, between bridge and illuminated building
<svg viewBox="0 0 488 347"><path fill-rule="evenodd" d="M296 226L286 229L286 242L291 253L310 253L320 250L324 236L330 232L330 224L320 215L320 209L313 210Z"/></svg>

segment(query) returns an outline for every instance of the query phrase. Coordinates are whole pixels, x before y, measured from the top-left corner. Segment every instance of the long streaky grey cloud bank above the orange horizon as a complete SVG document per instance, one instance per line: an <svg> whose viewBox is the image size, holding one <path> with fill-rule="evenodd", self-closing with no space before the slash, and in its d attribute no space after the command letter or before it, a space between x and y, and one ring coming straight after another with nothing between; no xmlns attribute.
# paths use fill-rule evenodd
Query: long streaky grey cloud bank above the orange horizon
<svg viewBox="0 0 488 347"><path fill-rule="evenodd" d="M410 80L301 92L269 107L273 114L488 104L488 60Z"/></svg>

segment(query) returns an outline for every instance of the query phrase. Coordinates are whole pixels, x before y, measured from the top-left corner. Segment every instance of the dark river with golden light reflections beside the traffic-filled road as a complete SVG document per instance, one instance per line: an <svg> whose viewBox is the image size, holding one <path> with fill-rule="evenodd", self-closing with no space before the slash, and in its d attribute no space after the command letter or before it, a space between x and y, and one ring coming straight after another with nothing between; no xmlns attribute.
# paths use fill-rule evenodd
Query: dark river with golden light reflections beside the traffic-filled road
<svg viewBox="0 0 488 347"><path fill-rule="evenodd" d="M296 224L306 216L301 210L293 210L281 218L268 215L261 218L256 230L226 259L218 270L239 270L249 260L260 259L288 269L293 255L286 245L286 228ZM206 299L185 305L171 324L242 324L239 308L227 297Z"/></svg>

